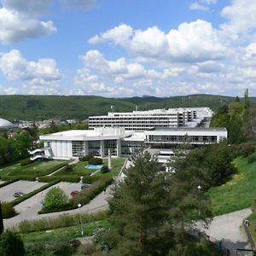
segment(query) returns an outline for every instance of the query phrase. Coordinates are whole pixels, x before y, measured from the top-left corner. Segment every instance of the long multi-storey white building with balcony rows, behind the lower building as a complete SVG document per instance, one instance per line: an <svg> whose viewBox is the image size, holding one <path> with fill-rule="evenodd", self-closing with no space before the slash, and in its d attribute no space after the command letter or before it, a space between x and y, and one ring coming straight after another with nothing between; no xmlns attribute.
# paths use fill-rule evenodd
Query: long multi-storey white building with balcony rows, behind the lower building
<svg viewBox="0 0 256 256"><path fill-rule="evenodd" d="M169 108L129 113L90 116L89 129L97 127L124 127L125 130L147 131L154 127L195 126L204 117L212 116L210 108Z"/></svg>

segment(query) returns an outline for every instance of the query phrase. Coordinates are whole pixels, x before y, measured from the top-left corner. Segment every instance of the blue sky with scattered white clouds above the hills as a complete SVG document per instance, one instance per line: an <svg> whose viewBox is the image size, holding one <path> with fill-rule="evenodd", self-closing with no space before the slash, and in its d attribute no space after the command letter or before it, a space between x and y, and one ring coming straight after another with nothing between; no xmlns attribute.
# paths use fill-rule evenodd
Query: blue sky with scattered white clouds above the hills
<svg viewBox="0 0 256 256"><path fill-rule="evenodd" d="M256 96L255 0L0 0L0 95Z"/></svg>

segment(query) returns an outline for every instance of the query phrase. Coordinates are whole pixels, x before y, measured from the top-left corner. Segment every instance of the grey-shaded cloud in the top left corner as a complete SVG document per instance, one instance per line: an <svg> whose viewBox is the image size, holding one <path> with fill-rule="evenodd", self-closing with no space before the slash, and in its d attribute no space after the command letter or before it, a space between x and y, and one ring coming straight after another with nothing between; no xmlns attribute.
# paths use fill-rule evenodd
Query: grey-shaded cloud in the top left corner
<svg viewBox="0 0 256 256"><path fill-rule="evenodd" d="M0 43L14 44L56 32L51 20L38 20L51 0L3 0L0 9Z"/></svg>

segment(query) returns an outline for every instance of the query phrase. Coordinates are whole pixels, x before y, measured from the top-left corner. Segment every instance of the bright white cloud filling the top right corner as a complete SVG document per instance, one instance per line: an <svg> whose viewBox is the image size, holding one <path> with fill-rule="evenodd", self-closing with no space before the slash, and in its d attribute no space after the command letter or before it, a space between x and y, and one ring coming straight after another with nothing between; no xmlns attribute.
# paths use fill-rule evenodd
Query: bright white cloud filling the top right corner
<svg viewBox="0 0 256 256"><path fill-rule="evenodd" d="M232 0L231 5L225 7L221 15L228 19L221 28L224 32L233 34L233 38L237 38L238 34L249 32L256 27L256 2L255 0Z"/></svg>

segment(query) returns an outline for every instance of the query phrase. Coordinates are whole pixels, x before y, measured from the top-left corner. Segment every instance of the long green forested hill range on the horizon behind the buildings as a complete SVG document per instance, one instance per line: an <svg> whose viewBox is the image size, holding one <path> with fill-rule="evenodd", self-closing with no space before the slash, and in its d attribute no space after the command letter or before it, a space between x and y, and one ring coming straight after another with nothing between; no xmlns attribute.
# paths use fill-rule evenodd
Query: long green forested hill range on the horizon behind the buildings
<svg viewBox="0 0 256 256"><path fill-rule="evenodd" d="M86 119L90 115L113 111L132 111L153 108L210 107L229 104L230 96L191 95L159 98L154 96L105 98L101 96L0 96L0 117L3 119L40 120ZM254 102L255 98L252 99Z"/></svg>

